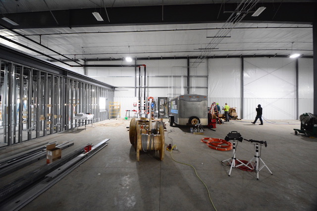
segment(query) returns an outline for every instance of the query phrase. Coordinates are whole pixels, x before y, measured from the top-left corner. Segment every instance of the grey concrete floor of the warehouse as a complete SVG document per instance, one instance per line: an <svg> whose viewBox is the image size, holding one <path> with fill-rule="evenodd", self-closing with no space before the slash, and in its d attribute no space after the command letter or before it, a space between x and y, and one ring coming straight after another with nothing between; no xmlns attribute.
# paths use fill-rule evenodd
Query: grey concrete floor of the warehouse
<svg viewBox="0 0 317 211"><path fill-rule="evenodd" d="M165 151L162 162L155 152L141 153L140 162L136 161L126 128L129 123L123 119L106 120L87 130L53 134L52 140L74 138L75 146L87 142L96 144L105 138L110 140L106 148L22 211L213 210L208 192L194 170L174 162L169 152ZM169 127L167 123L165 143L177 145L178 150L173 151L175 160L197 169L218 211L316 211L317 138L294 135L293 128L300 128L299 121L278 123L264 122L260 126L251 121L230 121L217 125L216 131L206 129L204 135L189 133L188 127ZM212 150L200 142L203 137L223 139L233 130L246 139L267 141L261 158L273 175L264 168L257 180L254 172L232 169L229 177L229 167L223 166L221 161L232 157L232 151ZM253 144L239 142L238 159L250 160L254 153ZM43 165L44 161L39 162L32 165L33 168ZM13 174L4 179L7 182L12 177Z"/></svg>

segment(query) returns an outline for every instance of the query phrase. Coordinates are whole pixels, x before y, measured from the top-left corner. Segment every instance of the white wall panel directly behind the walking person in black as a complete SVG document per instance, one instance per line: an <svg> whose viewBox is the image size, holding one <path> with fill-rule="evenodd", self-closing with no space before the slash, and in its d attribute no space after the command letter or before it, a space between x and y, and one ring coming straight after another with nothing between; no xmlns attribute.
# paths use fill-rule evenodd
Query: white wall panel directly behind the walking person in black
<svg viewBox="0 0 317 211"><path fill-rule="evenodd" d="M244 59L244 119L261 104L266 119L296 119L296 70L290 58Z"/></svg>

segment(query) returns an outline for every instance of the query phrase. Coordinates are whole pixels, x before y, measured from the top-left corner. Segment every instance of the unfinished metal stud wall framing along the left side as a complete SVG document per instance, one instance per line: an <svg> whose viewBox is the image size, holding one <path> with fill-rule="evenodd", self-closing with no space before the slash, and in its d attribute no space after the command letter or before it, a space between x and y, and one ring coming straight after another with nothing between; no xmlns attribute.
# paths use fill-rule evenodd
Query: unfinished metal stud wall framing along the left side
<svg viewBox="0 0 317 211"><path fill-rule="evenodd" d="M77 113L94 114L93 122L108 119L114 87L37 64L0 64L0 147L82 126Z"/></svg>

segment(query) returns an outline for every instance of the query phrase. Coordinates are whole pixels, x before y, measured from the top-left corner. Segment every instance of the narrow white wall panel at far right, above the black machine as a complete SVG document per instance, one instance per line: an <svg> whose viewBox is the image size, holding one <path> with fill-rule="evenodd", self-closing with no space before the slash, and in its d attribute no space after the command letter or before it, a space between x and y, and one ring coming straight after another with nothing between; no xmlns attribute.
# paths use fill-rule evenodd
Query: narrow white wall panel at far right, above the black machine
<svg viewBox="0 0 317 211"><path fill-rule="evenodd" d="M313 59L298 60L298 113L314 113Z"/></svg>

